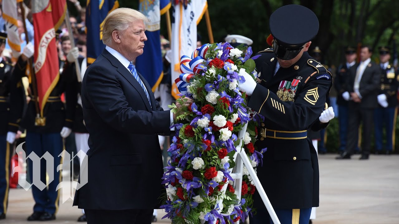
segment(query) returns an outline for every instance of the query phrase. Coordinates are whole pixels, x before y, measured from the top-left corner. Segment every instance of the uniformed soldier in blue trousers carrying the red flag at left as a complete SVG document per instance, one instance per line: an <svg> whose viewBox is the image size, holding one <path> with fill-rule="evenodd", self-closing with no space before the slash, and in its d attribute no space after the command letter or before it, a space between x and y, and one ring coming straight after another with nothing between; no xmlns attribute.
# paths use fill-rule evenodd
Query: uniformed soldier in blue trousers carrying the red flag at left
<svg viewBox="0 0 399 224"><path fill-rule="evenodd" d="M24 53L18 58L15 65L14 75L21 79L26 74L27 61L34 54L32 43L24 47ZM32 69L33 70L33 69ZM73 106L71 100L66 99L66 105L61 101L61 94L69 87L67 85L68 74L58 75L58 82L51 90L43 109L43 116L38 110L38 97L35 96L37 86L30 83L31 100L28 103L26 112L21 121L21 127L26 129L26 154L34 152L38 157L42 157L46 152L54 158L53 181L43 190L36 185L32 185L32 195L35 200L33 214L28 217L28 221L33 220L54 220L59 206L59 191L57 185L61 181L61 171L57 171L61 163L60 153L63 151L63 139L71 134L73 124ZM36 81L34 75L31 80ZM43 160L42 160L43 161ZM37 169L37 167L35 167ZM30 180L33 179L32 160L28 160L28 172ZM41 163L40 179L46 183L45 165Z"/></svg>

